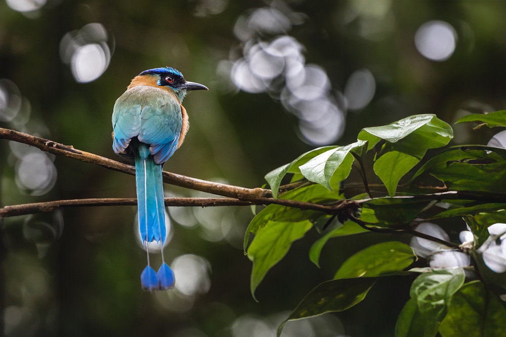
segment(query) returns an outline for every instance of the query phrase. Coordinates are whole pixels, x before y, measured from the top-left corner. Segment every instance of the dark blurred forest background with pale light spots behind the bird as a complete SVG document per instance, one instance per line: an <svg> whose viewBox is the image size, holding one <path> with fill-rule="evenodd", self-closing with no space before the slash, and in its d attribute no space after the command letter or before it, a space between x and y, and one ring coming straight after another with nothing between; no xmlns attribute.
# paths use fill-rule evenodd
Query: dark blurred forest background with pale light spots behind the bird
<svg viewBox="0 0 506 337"><path fill-rule="evenodd" d="M259 187L267 172L354 142L364 127L504 109L505 52L503 0L4 0L0 125L119 160L114 101L141 71L171 66L209 92L185 99L190 131L164 169ZM456 125L453 143L493 136L471 127ZM2 205L135 197L132 176L5 140L0 150ZM4 219L5 335L273 336L309 290L375 240L329 241L318 269L310 231L269 272L257 303L242 253L249 207L169 207L167 217L176 289L153 293L140 288L136 207ZM409 285L378 282L351 310L290 322L283 336L392 336Z"/></svg>

